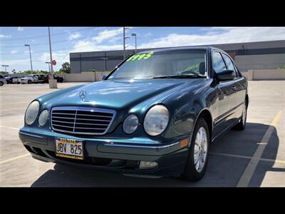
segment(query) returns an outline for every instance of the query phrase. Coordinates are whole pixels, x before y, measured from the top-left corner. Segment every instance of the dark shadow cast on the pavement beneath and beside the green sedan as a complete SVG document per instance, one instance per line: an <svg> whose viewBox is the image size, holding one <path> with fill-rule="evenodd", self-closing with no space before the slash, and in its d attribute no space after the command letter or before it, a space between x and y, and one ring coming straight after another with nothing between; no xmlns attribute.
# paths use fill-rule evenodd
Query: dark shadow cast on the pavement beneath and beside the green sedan
<svg viewBox="0 0 285 214"><path fill-rule="evenodd" d="M247 123L244 131L229 131L215 141L211 146L207 172L202 180L189 183L179 178L134 178L85 168L73 168L65 165L54 165L41 175L32 187L226 187L235 186L239 182L250 159L215 155L214 153L232 154L238 156L253 156L266 133L269 125L262 123ZM279 147L276 128L271 135L262 158L275 159ZM284 168L272 168L274 162L259 161L257 170L252 177L251 186L260 186L268 171L284 172Z"/></svg>

